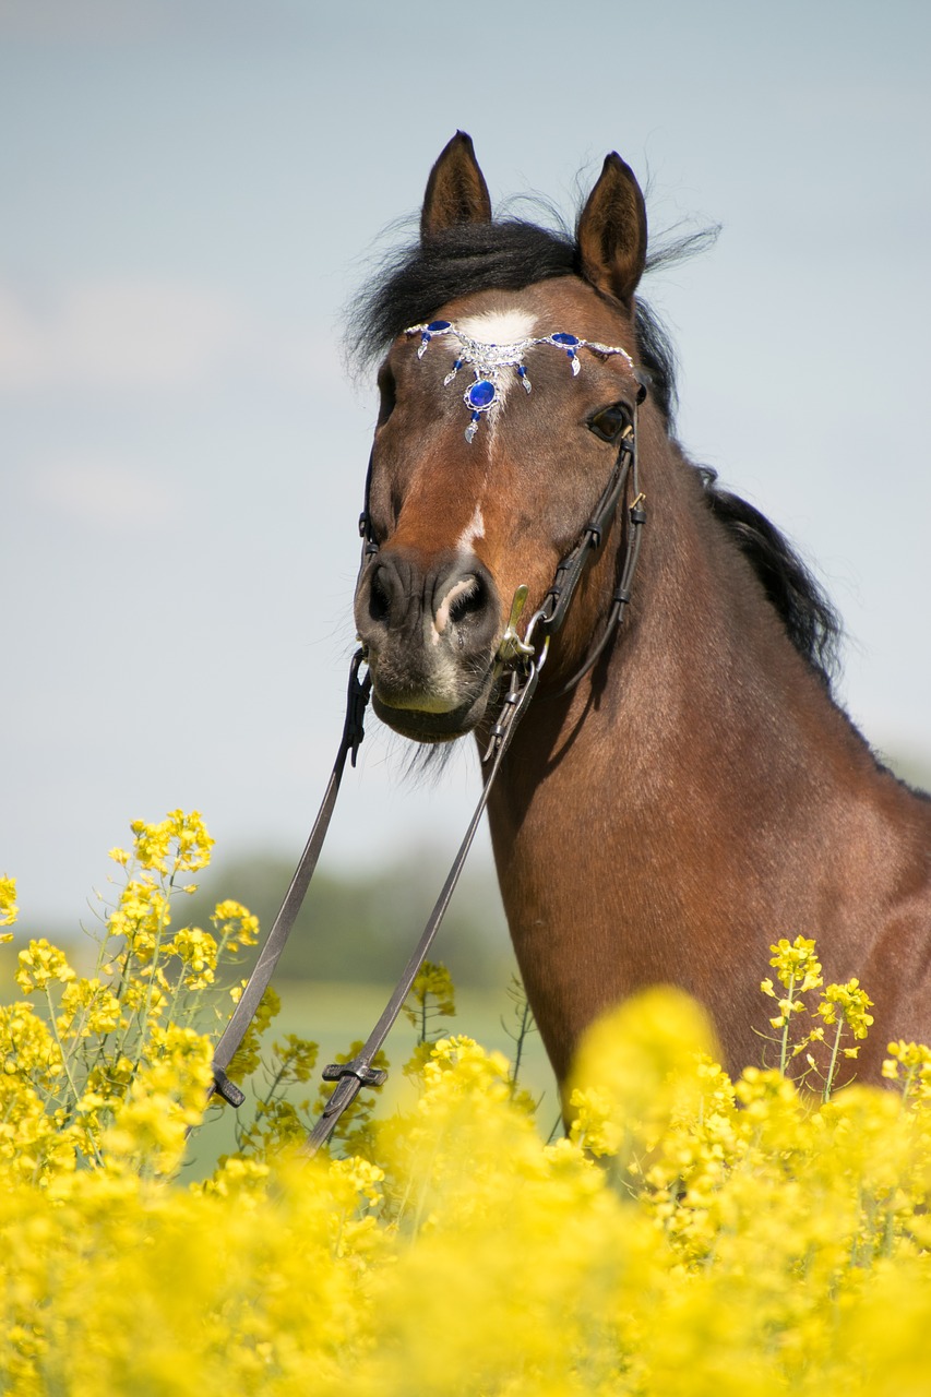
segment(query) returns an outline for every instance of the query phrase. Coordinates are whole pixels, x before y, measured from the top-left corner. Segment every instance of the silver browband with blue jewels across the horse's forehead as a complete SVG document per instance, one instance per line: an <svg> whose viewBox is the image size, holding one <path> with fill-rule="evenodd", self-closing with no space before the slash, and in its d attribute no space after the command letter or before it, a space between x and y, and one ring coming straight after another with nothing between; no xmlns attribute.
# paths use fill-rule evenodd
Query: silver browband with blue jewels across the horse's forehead
<svg viewBox="0 0 931 1397"><path fill-rule="evenodd" d="M411 326L404 334L421 337L417 351L418 359L424 358L431 346L431 341L440 335L453 335L459 341L459 353L453 367L443 379L443 387L453 381L460 369L468 367L475 374L474 381L470 383L463 394L463 402L470 412L468 426L466 427L466 440L470 443L478 432L481 419L484 416L491 419L500 407L499 377L502 370L513 369L523 384L524 393L531 391L531 383L524 367L524 356L535 345L554 345L556 349L562 349L569 359L573 376L582 369L579 360L580 349L590 349L591 353L598 355L601 359L619 353L633 367L633 359L626 349L621 349L618 345L601 345L594 339L580 339L579 335L570 335L563 330L558 330L549 335L537 335L531 339L519 339L510 345L495 345L485 344L482 339L470 339L452 320L431 320L426 326Z"/></svg>

